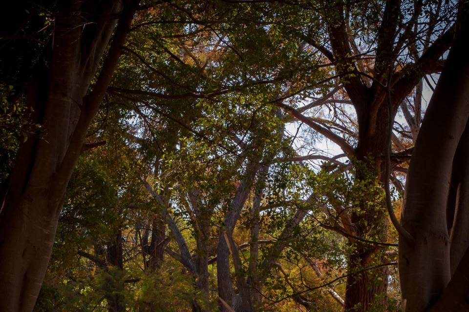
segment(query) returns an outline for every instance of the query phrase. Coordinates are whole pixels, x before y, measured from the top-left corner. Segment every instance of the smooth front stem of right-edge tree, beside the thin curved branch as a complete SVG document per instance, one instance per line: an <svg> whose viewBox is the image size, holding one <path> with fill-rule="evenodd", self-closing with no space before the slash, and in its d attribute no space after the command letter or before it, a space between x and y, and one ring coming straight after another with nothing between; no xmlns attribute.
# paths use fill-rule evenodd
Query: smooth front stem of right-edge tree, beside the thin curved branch
<svg viewBox="0 0 469 312"><path fill-rule="evenodd" d="M451 261L448 232L451 222L447 221L454 158L461 138L465 137L463 132L469 117L469 23L467 5L461 7L464 13L458 21L460 29L428 105L406 181L401 222L414 237L415 244L403 237L399 239L399 275L405 311L425 311L443 300L440 296L448 283L453 285L454 279L461 279L456 272L464 271L469 265L461 261L451 274L451 263L457 261ZM462 142L462 149L466 144ZM466 206L459 205L456 215L467 215L469 212L463 211ZM458 222L456 218L455 226ZM461 222L465 223L463 219ZM465 231L467 236L468 229ZM458 248L458 251L463 249ZM462 255L453 252L456 254L458 258ZM464 302L467 297L459 297L459 300Z"/></svg>

